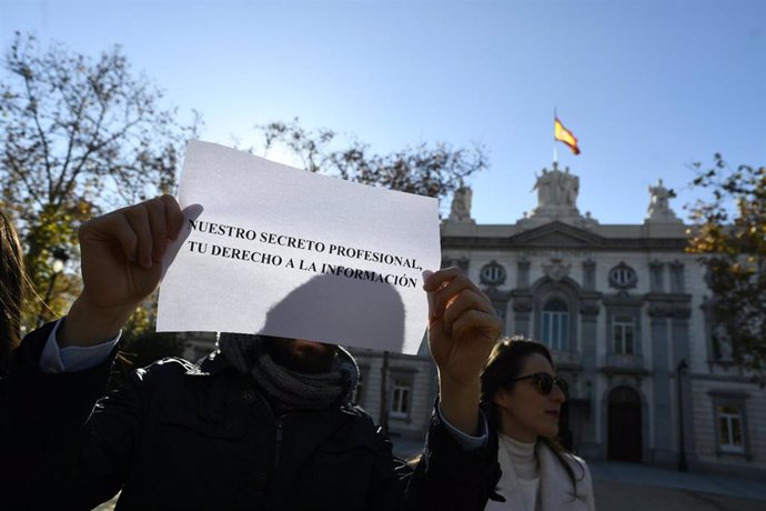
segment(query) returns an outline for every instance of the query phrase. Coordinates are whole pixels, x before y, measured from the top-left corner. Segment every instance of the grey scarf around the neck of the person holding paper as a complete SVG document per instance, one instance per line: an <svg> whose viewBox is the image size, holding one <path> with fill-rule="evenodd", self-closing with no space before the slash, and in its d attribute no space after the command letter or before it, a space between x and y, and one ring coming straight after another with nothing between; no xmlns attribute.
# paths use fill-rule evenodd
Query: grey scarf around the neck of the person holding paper
<svg viewBox="0 0 766 511"><path fill-rule="evenodd" d="M351 354L337 347L329 372L306 374L275 363L263 338L244 333L221 333L223 357L238 371L252 375L266 395L284 410L321 410L347 399L359 381L359 368Z"/></svg>

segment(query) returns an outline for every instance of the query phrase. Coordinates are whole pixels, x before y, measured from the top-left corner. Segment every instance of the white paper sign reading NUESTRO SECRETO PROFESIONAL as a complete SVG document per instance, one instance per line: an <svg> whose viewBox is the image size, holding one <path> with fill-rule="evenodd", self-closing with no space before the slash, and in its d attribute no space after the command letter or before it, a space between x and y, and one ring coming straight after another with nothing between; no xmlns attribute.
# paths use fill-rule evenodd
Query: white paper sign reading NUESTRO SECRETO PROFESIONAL
<svg viewBox="0 0 766 511"><path fill-rule="evenodd" d="M179 202L184 227L165 261L174 257L158 331L417 351L422 272L441 262L436 199L192 141Z"/></svg>

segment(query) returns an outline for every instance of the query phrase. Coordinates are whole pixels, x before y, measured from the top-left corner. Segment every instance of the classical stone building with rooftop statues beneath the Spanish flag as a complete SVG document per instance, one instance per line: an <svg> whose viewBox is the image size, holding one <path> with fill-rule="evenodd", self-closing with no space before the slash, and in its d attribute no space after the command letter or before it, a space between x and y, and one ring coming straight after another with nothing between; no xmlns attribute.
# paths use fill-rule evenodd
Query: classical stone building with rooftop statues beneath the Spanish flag
<svg viewBox="0 0 766 511"><path fill-rule="evenodd" d="M535 188L537 207L516 223L481 226L462 187L442 224L443 263L481 283L507 335L553 349L570 382L565 440L586 459L766 471L766 391L714 334L704 269L684 252L687 228L662 180L628 226L581 214L568 169L544 169ZM384 358L355 353L357 400L379 415ZM387 365L390 430L421 437L435 369L425 351Z"/></svg>

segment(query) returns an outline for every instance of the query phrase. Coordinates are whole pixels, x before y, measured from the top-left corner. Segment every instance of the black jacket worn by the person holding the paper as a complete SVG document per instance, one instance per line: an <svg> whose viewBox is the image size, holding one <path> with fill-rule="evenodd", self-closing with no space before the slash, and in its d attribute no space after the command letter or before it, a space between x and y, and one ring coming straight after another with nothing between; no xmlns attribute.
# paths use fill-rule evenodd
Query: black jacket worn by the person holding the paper
<svg viewBox="0 0 766 511"><path fill-rule="evenodd" d="M12 455L37 465L12 489L18 505L91 509L122 489L118 511L467 511L494 488L494 445L463 451L435 415L413 471L359 407L278 417L222 357L140 369L89 417L111 361L40 373L48 331L24 340L7 389Z"/></svg>

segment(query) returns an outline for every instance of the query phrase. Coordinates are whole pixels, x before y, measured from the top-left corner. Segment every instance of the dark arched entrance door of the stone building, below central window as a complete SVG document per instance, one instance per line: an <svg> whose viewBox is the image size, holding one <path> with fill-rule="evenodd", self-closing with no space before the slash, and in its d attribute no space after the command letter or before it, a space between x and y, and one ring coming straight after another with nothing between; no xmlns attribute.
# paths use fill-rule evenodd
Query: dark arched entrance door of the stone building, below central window
<svg viewBox="0 0 766 511"><path fill-rule="evenodd" d="M613 461L641 463L641 397L629 387L609 392L607 408L607 458Z"/></svg>

